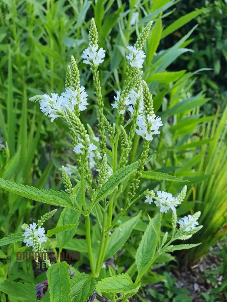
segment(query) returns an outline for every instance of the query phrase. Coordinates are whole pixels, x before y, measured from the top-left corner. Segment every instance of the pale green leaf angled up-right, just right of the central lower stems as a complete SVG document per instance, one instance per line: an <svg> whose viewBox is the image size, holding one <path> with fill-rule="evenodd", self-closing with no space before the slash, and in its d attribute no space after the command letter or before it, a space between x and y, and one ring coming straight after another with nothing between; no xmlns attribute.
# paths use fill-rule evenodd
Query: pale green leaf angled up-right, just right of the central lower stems
<svg viewBox="0 0 227 302"><path fill-rule="evenodd" d="M137 222L140 220L140 216L141 211L137 216L132 217L130 220L120 224L119 227L115 228L113 234L108 239L104 260L107 260L122 248L124 243L129 238L134 226L136 226Z"/></svg>

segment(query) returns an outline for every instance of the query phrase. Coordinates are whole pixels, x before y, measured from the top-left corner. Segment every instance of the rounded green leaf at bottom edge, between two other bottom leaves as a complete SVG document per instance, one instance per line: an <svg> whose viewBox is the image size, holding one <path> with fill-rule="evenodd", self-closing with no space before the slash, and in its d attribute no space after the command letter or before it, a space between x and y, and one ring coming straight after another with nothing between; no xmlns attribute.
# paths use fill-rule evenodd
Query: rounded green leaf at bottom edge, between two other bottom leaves
<svg viewBox="0 0 227 302"><path fill-rule="evenodd" d="M85 302L92 295L95 279L90 275L78 273L70 282L72 302Z"/></svg>

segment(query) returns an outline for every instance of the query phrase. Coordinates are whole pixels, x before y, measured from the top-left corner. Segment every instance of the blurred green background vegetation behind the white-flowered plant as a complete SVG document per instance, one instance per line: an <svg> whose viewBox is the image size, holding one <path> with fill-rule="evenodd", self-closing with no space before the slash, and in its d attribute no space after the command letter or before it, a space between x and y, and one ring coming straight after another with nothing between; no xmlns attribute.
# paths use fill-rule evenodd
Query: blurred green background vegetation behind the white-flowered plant
<svg viewBox="0 0 227 302"><path fill-rule="evenodd" d="M137 12L133 24L133 13ZM175 256L181 264L192 266L226 232L226 1L0 0L0 176L38 188L63 189L61 165L75 165L67 129L61 120L51 123L28 98L61 93L71 55L81 72L81 85L89 95L90 106L81 118L97 134L91 72L81 58L92 17L99 31L99 46L106 50L100 80L105 114L111 123L115 115L110 103L122 86L126 70L125 49L153 20L144 47L143 79L164 125L160 137L152 141L150 153L156 155L146 169L189 181L187 202L179 207L178 215L201 210L199 224L204 227L193 236L192 243L202 244ZM142 150L138 137L133 148L136 158ZM73 177L72 170L72 181ZM176 194L182 184L143 179L144 188ZM20 224L29 222L29 217L33 221L49 210L47 205L0 194L6 201L0 214L2 237L20 231ZM143 201L135 207L132 210L141 208L150 215L156 211L155 206L147 208ZM170 218L165 216L163 226L168 226ZM81 238L81 234L83 230L76 235ZM133 262L133 244L132 239L126 247L129 262ZM167 281L169 291L173 290L173 284Z"/></svg>

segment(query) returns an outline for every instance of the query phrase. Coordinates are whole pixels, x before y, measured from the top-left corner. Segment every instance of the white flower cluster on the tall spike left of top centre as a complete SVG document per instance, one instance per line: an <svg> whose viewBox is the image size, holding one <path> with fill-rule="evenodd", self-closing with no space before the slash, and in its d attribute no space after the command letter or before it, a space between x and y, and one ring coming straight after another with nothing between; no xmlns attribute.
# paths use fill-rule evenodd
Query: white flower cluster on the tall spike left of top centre
<svg viewBox="0 0 227 302"><path fill-rule="evenodd" d="M89 45L83 51L82 58L84 59L83 62L89 65L99 65L100 63L104 62L105 57L105 50L101 47L98 50L98 45Z"/></svg>

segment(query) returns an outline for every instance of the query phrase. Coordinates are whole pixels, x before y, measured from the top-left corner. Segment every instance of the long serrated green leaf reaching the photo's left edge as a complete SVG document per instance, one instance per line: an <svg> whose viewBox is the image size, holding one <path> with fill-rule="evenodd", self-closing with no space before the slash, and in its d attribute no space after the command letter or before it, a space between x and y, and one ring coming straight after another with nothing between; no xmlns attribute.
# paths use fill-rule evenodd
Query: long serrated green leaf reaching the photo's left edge
<svg viewBox="0 0 227 302"><path fill-rule="evenodd" d="M54 190L38 189L29 187L27 185L16 184L15 182L2 178L0 178L0 188L32 200L44 202L46 204L52 204L58 207L74 208L72 206L71 199L63 191L59 192Z"/></svg>

